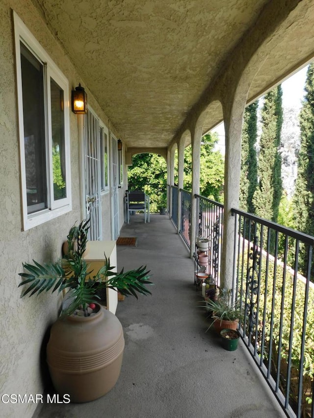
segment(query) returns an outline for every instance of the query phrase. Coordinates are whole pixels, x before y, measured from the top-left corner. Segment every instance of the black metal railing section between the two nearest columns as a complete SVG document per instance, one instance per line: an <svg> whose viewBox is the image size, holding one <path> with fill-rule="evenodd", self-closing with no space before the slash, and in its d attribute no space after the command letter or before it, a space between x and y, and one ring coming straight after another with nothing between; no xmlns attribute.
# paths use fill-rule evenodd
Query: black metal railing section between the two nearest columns
<svg viewBox="0 0 314 418"><path fill-rule="evenodd" d="M222 251L222 225L224 206L206 197L196 198L196 237L209 240L209 264L207 272L212 275L217 286L220 285L220 261Z"/></svg>

